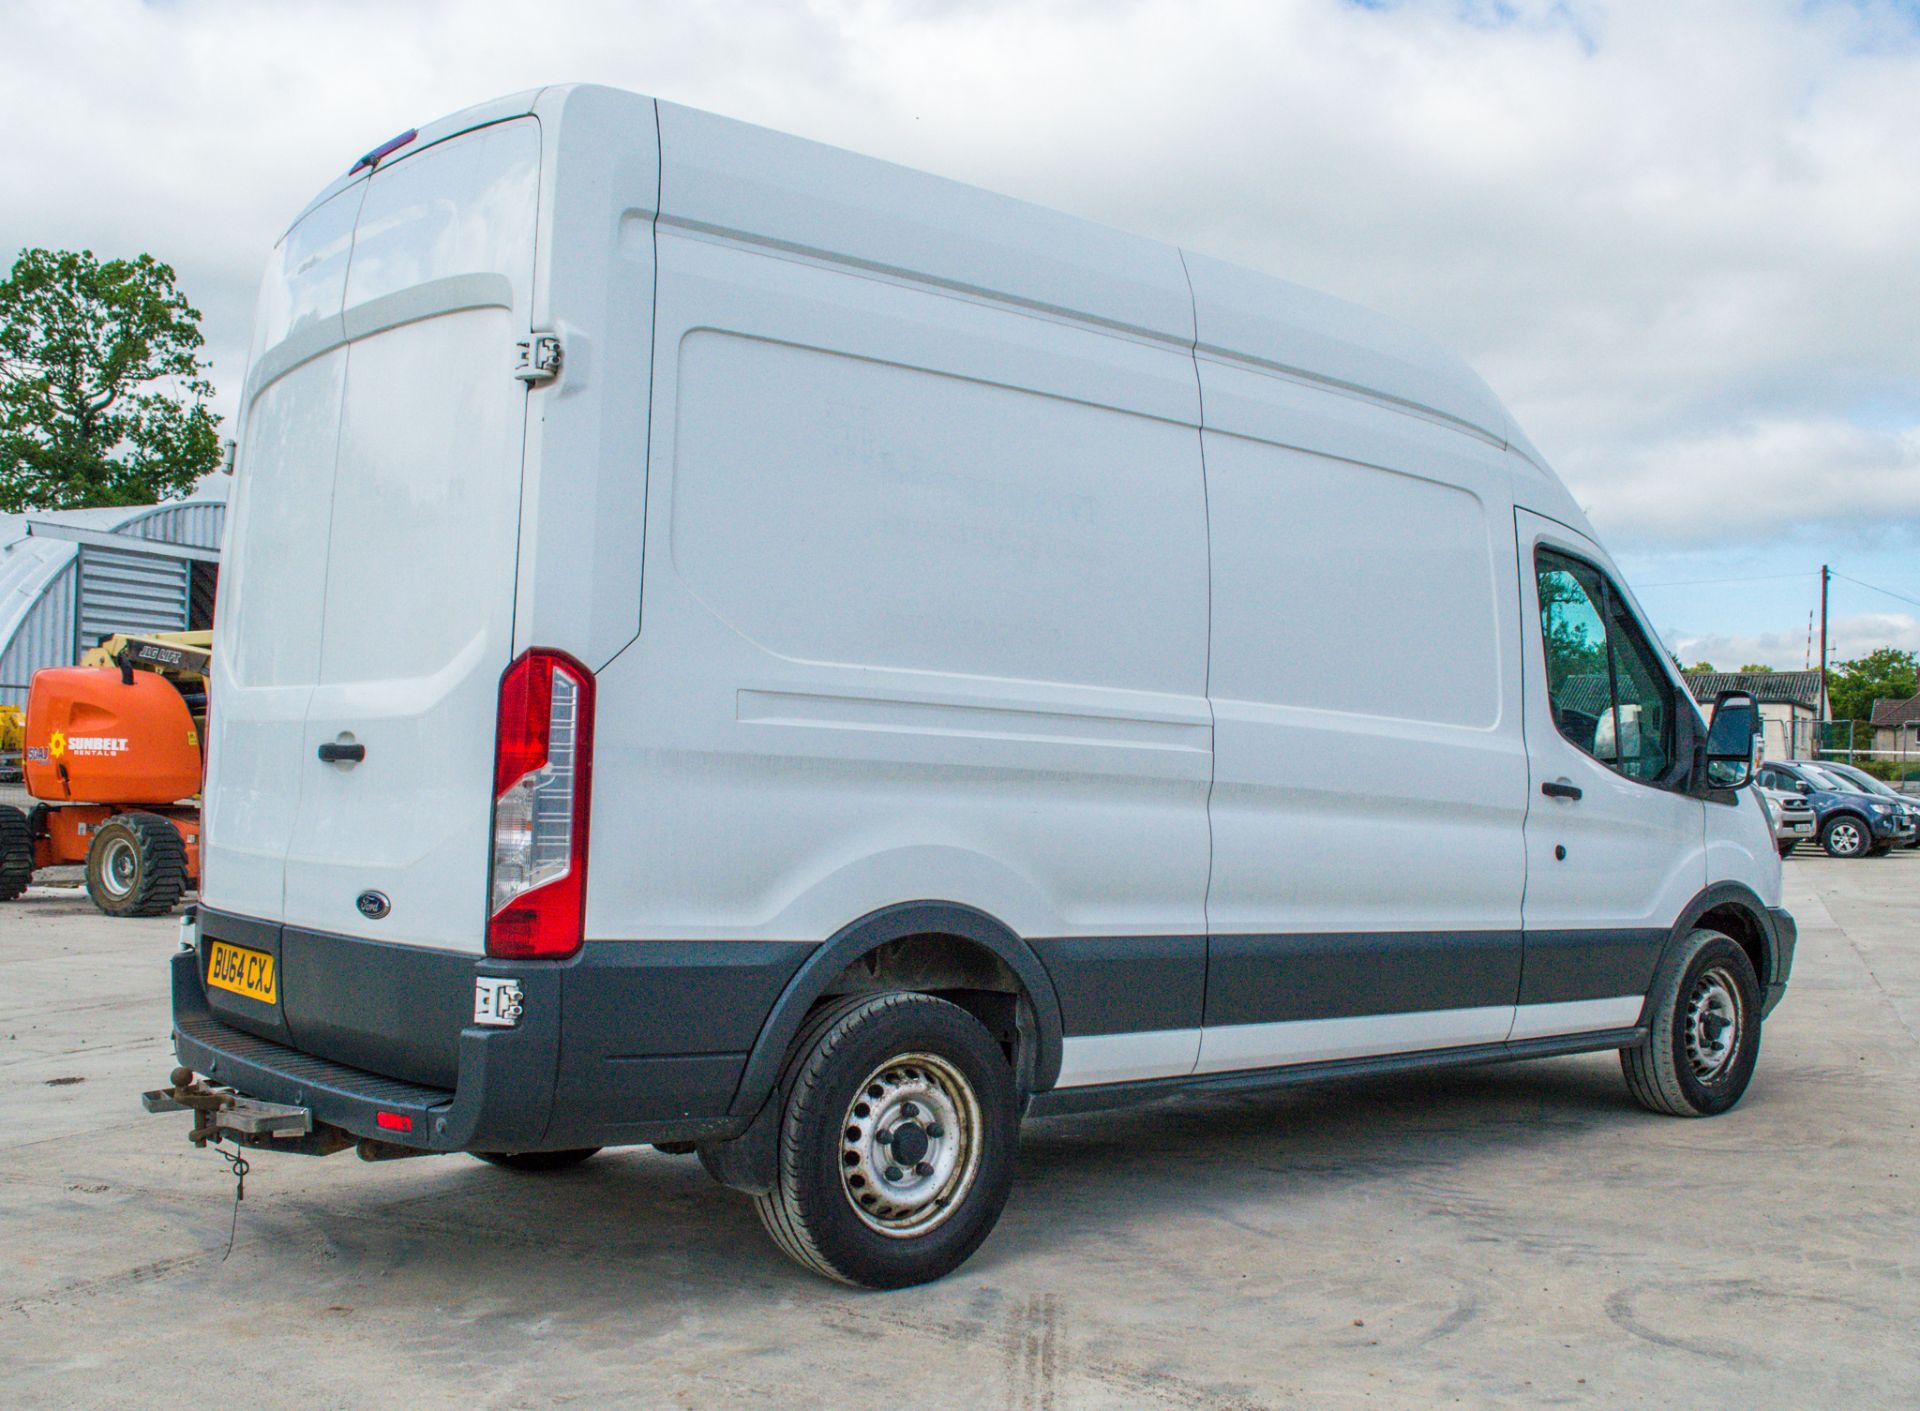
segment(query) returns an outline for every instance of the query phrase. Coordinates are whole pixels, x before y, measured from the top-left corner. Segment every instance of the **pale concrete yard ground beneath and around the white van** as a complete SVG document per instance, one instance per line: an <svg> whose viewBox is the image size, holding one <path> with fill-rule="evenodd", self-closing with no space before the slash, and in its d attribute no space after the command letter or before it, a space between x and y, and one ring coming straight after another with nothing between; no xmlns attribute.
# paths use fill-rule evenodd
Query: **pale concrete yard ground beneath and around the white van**
<svg viewBox="0 0 1920 1411"><path fill-rule="evenodd" d="M693 1158L261 1158L163 1083L177 923L0 910L0 1328L27 1407L1920 1405L1920 852L1788 864L1747 1100L1611 1054L1029 1123L956 1275L791 1267Z"/></svg>

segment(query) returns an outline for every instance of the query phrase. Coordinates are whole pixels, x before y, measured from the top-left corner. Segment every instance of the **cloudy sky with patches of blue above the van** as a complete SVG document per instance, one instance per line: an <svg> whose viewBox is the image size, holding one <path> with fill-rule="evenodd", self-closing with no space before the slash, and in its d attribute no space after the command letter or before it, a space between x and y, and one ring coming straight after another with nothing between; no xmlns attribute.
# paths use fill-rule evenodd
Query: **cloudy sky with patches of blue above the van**
<svg viewBox="0 0 1920 1411"><path fill-rule="evenodd" d="M1402 317L1690 662L1805 664L1822 562L1837 657L1920 647L1920 0L0 0L0 259L169 259L230 411L315 190L564 81Z"/></svg>

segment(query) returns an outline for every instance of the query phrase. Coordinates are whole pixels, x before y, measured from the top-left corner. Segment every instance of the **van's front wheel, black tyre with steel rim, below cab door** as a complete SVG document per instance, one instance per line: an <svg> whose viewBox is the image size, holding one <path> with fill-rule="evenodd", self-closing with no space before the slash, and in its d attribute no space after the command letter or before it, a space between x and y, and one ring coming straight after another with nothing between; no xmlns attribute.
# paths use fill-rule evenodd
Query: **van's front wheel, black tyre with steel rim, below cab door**
<svg viewBox="0 0 1920 1411"><path fill-rule="evenodd" d="M1761 981L1736 941L1693 931L1649 996L1649 1037L1620 1050L1626 1087L1647 1112L1715 1117L1747 1090L1761 1056Z"/></svg>

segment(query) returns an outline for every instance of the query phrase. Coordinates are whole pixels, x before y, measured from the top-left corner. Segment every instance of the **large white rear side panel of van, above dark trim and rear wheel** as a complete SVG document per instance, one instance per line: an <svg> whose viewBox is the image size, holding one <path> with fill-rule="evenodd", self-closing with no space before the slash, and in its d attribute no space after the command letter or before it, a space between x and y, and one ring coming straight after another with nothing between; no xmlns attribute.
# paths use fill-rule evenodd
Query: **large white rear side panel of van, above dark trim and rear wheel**
<svg viewBox="0 0 1920 1411"><path fill-rule="evenodd" d="M1198 975L1187 351L687 234L672 180L664 205L589 937L820 941L954 900L1025 937L1188 937Z"/></svg>

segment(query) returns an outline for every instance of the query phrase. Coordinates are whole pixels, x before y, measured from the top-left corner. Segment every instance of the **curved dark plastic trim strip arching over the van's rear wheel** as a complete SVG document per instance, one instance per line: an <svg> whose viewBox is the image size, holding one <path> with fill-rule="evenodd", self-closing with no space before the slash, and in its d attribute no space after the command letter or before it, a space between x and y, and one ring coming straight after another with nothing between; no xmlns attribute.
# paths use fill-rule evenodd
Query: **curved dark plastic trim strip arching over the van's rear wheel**
<svg viewBox="0 0 1920 1411"><path fill-rule="evenodd" d="M733 1092L730 1112L733 1115L756 1113L774 1092L780 1069L787 1058L787 1046L801 1031L814 1002L828 992L854 960L889 941L912 935L950 935L991 950L1006 964L1033 1010L1035 1048L1033 1090L1044 1092L1060 1077L1060 996L1054 994L1052 979L1033 946L1020 939L1008 925L996 921L973 906L960 902L899 902L862 916L858 921L841 927L814 954L810 954L793 979L774 1000L772 1014L760 1025L760 1037L747 1056L747 1069L741 1073L739 1088Z"/></svg>

